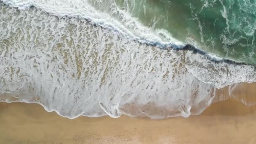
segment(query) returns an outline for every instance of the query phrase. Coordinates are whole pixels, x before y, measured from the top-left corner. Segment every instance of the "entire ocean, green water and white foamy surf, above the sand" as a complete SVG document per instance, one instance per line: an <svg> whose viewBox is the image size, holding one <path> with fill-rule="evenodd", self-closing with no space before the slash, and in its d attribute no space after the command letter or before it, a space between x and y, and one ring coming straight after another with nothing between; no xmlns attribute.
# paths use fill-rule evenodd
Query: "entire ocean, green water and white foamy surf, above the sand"
<svg viewBox="0 0 256 144"><path fill-rule="evenodd" d="M0 2L3 102L71 119L189 117L256 82L254 0Z"/></svg>

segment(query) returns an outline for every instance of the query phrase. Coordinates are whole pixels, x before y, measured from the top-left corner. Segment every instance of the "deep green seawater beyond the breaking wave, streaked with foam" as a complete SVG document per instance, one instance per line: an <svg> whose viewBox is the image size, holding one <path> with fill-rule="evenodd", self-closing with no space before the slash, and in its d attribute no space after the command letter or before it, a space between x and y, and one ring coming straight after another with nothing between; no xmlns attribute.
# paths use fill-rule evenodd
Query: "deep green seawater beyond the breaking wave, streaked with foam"
<svg viewBox="0 0 256 144"><path fill-rule="evenodd" d="M165 29L181 42L256 64L256 0L114 0L102 7L107 11L113 3L144 26Z"/></svg>

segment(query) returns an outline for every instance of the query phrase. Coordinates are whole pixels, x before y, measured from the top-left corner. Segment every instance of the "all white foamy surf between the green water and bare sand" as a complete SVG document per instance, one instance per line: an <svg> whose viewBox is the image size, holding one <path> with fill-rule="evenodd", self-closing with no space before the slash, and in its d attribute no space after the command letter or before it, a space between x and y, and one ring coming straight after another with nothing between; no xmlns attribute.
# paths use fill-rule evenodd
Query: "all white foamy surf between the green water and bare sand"
<svg viewBox="0 0 256 144"><path fill-rule="evenodd" d="M2 2L0 101L38 103L69 118L188 117L224 100L218 88L232 85L232 93L233 84L256 81L254 66L177 51L186 44L112 0L110 10L104 1Z"/></svg>

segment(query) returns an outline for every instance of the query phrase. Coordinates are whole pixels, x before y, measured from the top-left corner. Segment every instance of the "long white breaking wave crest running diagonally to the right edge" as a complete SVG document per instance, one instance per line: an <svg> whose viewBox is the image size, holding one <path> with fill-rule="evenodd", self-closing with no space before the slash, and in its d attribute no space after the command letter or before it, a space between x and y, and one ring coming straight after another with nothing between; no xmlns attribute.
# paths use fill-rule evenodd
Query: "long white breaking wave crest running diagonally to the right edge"
<svg viewBox="0 0 256 144"><path fill-rule="evenodd" d="M200 53L202 55L205 55L208 59L215 62L224 61L227 63L234 64L246 64L241 61L236 61L232 58L222 58L220 56L217 56L216 54L205 52L202 49L197 48L191 44L183 43L172 37L172 35L164 29L154 30L149 27L144 27L141 23L137 21L137 19L133 18L126 11L122 11L120 8L118 8L114 0L111 0L109 2L96 0L96 2L97 5L102 5L102 3L112 4L112 7L110 8L111 11L109 13L110 15L112 15L113 13L119 13L119 15L116 16L119 19L114 19L111 16L105 16L106 13L97 11L93 6L91 6L91 3L93 3L91 2L91 0L60 0L57 2L54 0L48 0L47 3L41 0L2 0L2 2L19 9L27 9L31 6L35 6L37 8L42 9L46 13L50 13L54 16L59 17L67 16L83 18L88 21L91 21L93 24L95 24L95 26L98 25L104 29L111 30L112 32L117 32L119 35L122 35L123 37L130 38L142 44L157 46L158 48L162 49L173 48L175 50L189 50L193 51L194 53ZM71 3L71 5L67 5L67 3ZM49 5L51 5L51 7L49 7ZM195 42L195 40L192 43L200 47Z"/></svg>

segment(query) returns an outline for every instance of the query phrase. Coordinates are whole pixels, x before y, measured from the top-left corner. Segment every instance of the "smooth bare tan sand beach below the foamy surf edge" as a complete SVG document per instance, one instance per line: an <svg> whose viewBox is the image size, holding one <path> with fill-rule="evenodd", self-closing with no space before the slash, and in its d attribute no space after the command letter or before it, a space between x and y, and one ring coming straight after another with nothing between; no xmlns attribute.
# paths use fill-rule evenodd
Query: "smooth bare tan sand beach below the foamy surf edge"
<svg viewBox="0 0 256 144"><path fill-rule="evenodd" d="M241 88L236 90L236 98L247 95L253 101L255 88L250 85ZM70 120L46 112L38 104L0 103L0 144L120 143L256 144L256 106L246 107L229 99L189 118L150 120L106 116Z"/></svg>

